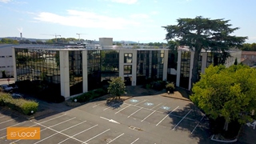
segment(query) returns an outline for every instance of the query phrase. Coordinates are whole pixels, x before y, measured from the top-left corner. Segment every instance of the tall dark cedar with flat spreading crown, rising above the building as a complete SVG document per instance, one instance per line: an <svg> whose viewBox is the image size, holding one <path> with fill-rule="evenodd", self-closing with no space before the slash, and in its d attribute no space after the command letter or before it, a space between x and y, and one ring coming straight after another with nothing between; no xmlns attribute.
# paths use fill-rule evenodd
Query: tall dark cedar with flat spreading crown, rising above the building
<svg viewBox="0 0 256 144"><path fill-rule="evenodd" d="M194 63L191 84L198 81L198 58L202 49L211 50L226 56L226 50L242 46L247 37L232 36L238 27L230 28L230 20L210 19L198 16L196 18L178 18L177 25L162 26L166 29L166 40L179 42L181 46L189 46L194 50ZM222 62L225 62L222 60Z"/></svg>

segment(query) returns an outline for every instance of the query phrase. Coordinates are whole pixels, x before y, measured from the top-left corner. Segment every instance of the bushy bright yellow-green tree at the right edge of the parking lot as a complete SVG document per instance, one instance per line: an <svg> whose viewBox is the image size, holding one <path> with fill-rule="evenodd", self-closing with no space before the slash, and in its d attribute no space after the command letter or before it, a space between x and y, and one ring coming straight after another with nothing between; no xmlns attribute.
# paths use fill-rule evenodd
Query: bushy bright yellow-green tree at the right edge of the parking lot
<svg viewBox="0 0 256 144"><path fill-rule="evenodd" d="M256 69L249 66L209 66L194 84L190 96L210 118L225 118L224 130L231 121L252 121L256 110Z"/></svg>

